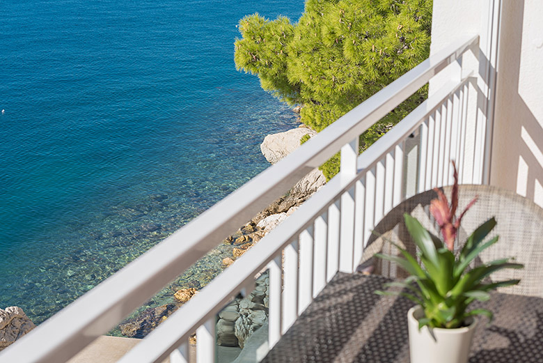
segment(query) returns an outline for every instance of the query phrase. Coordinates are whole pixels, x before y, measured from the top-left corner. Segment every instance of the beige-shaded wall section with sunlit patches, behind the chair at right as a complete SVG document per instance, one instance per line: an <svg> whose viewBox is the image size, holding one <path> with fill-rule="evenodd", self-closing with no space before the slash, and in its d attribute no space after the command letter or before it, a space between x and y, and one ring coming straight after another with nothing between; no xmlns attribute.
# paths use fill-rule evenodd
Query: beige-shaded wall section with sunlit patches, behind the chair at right
<svg viewBox="0 0 543 363"><path fill-rule="evenodd" d="M543 6L504 1L491 184L543 206Z"/></svg>

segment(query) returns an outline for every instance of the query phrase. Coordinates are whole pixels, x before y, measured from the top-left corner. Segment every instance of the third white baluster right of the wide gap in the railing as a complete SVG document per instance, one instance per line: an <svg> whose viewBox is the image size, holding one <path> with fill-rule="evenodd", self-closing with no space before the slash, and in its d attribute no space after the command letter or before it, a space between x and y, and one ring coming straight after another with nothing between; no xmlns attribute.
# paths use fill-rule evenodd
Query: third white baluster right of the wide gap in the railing
<svg viewBox="0 0 543 363"><path fill-rule="evenodd" d="M299 245L298 315L303 313L313 300L313 226L300 233Z"/></svg>

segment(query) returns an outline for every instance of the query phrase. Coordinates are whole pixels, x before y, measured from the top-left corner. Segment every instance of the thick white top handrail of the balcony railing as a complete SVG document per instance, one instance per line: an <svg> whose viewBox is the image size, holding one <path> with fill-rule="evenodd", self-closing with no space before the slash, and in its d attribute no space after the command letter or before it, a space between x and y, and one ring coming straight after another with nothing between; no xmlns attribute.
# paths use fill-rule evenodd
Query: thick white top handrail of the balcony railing
<svg viewBox="0 0 543 363"><path fill-rule="evenodd" d="M469 40L459 40L430 56L339 118L303 147L251 179L159 245L46 320L40 327L26 334L13 346L3 350L0 360L31 363L70 359L216 247L226 235L246 223L287 192L309 171L329 159L341 146L357 137L354 135L368 130L437 72L477 45L478 36L473 36ZM330 187L326 189L333 187L333 184L330 183ZM283 229L274 234L281 233ZM231 272L228 269L223 272L227 273Z"/></svg>

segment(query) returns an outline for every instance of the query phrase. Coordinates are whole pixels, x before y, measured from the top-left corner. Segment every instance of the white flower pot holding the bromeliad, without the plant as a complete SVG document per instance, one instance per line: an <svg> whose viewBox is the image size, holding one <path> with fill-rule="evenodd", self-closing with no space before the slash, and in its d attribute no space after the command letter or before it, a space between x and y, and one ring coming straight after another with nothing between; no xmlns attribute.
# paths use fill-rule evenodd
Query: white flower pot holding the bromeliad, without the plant
<svg viewBox="0 0 543 363"><path fill-rule="evenodd" d="M466 363L477 319L472 318L467 327L456 329L418 330L418 319L424 316L422 307L416 306L407 312L409 326L409 355L411 363Z"/></svg>

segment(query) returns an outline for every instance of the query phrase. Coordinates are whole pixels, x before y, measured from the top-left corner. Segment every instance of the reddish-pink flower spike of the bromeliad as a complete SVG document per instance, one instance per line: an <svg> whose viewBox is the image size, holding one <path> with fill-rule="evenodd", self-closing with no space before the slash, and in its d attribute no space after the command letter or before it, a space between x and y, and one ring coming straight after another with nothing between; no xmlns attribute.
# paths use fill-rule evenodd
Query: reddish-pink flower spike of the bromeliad
<svg viewBox="0 0 543 363"><path fill-rule="evenodd" d="M458 171L456 169L456 164L453 162L453 177L455 179L455 183L453 184L453 192L450 196L450 206L447 201L447 197L441 190L435 188L434 190L437 193L438 199L433 199L430 202L430 213L434 216L436 219L437 224L439 224L439 229L441 229L441 234L443 235L443 240L445 242L445 245L449 249L449 251L454 251L455 249L455 240L457 231L460 227L460 222L462 221L462 217L466 214L466 212L473 206L475 201L477 201L478 197L475 196L475 199L471 201L468 206L464 209L460 217L456 217L456 210L458 208Z"/></svg>

